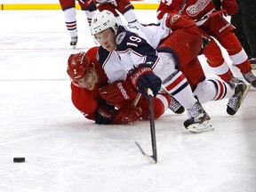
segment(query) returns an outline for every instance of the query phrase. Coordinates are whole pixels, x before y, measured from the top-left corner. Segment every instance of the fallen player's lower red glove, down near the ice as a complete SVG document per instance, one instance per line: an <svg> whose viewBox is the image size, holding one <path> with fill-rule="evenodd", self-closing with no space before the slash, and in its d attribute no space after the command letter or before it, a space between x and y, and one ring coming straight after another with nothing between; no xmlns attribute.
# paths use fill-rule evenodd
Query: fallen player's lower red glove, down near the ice
<svg viewBox="0 0 256 192"><path fill-rule="evenodd" d="M113 118L113 124L133 124L140 119L142 110L140 107L127 106L119 108L116 111L116 116Z"/></svg>

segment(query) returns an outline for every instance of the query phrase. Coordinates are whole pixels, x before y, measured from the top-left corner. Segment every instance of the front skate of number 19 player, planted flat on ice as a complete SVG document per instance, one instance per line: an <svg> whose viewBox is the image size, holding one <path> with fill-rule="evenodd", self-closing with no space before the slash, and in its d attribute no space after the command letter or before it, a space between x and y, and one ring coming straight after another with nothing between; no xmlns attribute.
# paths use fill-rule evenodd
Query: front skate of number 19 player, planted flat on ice
<svg viewBox="0 0 256 192"><path fill-rule="evenodd" d="M204 108L199 102L188 109L188 120L184 122L184 126L189 132L200 133L214 130L212 124L209 123L210 116L204 111Z"/></svg>

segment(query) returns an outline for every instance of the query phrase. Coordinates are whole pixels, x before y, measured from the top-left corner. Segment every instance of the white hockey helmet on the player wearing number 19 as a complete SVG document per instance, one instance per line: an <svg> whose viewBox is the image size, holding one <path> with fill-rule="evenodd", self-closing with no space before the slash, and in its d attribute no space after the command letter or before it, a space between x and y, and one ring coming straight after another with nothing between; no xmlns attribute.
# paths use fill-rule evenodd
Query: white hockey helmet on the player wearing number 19
<svg viewBox="0 0 256 192"><path fill-rule="evenodd" d="M112 12L109 12L107 10L103 10L102 12L96 13L92 17L92 23L91 23L92 36L95 36L96 34L100 33L101 31L107 28L113 28L116 34L118 24L117 24L115 15Z"/></svg>

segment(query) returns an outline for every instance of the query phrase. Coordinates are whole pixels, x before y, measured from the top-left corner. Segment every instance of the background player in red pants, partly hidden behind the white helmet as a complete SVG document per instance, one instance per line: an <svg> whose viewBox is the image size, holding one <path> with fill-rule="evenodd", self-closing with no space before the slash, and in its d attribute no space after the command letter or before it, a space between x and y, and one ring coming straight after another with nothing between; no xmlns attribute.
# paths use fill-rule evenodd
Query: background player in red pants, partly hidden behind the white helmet
<svg viewBox="0 0 256 192"><path fill-rule="evenodd" d="M119 13L124 16L124 19L127 21L129 25L137 22L137 17L135 12L133 11L134 7L129 0L92 0L95 4L97 4L98 10L101 12L103 10L108 10L112 12L118 23L123 23L120 18Z"/></svg>

